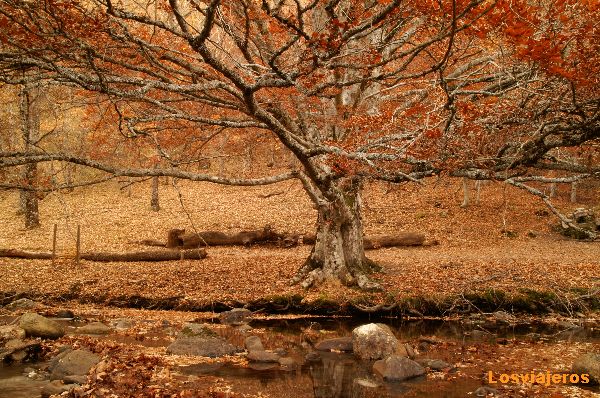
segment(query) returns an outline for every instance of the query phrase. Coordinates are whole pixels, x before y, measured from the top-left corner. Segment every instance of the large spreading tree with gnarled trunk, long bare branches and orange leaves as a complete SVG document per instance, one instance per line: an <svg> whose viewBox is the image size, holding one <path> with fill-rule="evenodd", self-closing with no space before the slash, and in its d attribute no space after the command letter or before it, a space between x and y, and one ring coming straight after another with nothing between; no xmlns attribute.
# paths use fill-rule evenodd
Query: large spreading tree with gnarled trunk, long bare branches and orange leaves
<svg viewBox="0 0 600 398"><path fill-rule="evenodd" d="M548 12L554 3L562 5L556 22ZM296 281L310 286L334 278L376 288L367 277L376 265L362 240L366 179L399 183L449 171L536 193L525 185L532 168L597 172L553 154L600 136L597 76L585 58L598 48L597 24L590 22L598 9L590 7L155 0L141 8L125 0L0 0L5 82L26 83L17 72L35 68L47 79L106 95L123 135L153 142L161 164L170 165L131 168L28 151L2 153L0 166L62 160L116 175L233 185L298 178L318 223ZM573 70L582 65L579 79ZM162 145L165 129L199 141L225 130L267 131L300 167L254 179L192 173Z"/></svg>

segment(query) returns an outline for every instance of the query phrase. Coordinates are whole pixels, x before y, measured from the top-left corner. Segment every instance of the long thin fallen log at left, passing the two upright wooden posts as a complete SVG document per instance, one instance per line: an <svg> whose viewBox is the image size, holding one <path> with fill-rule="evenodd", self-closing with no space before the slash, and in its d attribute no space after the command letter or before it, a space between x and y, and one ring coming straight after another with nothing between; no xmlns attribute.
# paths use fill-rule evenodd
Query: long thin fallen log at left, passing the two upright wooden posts
<svg viewBox="0 0 600 398"><path fill-rule="evenodd" d="M174 261L201 260L207 256L204 249L192 250L152 250L124 253L88 252L81 253L80 258L98 262L129 262L129 261ZM24 258L29 260L49 260L52 253L30 252L16 249L0 249L0 257Z"/></svg>

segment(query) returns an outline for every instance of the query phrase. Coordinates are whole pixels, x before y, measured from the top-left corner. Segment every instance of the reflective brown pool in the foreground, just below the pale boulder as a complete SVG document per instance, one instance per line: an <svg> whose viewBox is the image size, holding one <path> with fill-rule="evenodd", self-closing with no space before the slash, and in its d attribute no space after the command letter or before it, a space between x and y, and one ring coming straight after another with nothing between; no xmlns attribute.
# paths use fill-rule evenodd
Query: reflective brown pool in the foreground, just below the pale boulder
<svg viewBox="0 0 600 398"><path fill-rule="evenodd" d="M319 359L296 371L277 365L251 364L253 368L206 363L183 366L186 375L212 375L223 378L240 394L263 393L281 398L459 398L475 390L481 382L473 379L432 381L425 377L390 383L371 373L372 361L360 361L352 354L319 353ZM258 365L258 366L257 366Z"/></svg>

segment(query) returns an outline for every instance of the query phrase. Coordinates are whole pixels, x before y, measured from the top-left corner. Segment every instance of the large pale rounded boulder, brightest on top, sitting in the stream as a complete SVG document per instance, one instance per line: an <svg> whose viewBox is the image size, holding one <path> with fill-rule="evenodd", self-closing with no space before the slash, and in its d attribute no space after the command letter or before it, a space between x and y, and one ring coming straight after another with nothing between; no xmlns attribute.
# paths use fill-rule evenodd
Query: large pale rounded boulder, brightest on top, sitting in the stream
<svg viewBox="0 0 600 398"><path fill-rule="evenodd" d="M352 331L352 351L360 359L381 359L395 354L400 342L386 325L369 323Z"/></svg>

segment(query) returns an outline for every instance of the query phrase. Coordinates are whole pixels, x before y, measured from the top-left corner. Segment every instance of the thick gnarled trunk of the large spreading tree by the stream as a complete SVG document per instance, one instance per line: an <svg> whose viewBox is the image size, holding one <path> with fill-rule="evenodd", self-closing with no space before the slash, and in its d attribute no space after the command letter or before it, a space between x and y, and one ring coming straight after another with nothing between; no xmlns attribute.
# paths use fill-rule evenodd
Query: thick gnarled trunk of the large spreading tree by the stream
<svg viewBox="0 0 600 398"><path fill-rule="evenodd" d="M360 187L357 184L338 186L335 200L321 202L318 206L315 244L305 264L294 277L308 288L326 280L337 280L365 290L380 286L368 274L380 270L365 255L363 226L360 213Z"/></svg>

